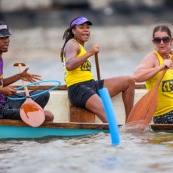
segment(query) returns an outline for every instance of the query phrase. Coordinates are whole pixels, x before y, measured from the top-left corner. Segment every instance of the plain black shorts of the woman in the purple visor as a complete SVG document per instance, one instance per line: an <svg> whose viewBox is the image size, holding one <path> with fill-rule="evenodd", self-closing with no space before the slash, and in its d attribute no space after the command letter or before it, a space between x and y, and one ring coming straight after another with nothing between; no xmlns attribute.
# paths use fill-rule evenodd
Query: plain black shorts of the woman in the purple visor
<svg viewBox="0 0 173 173"><path fill-rule="evenodd" d="M104 80L89 80L80 82L68 87L68 97L70 102L77 107L85 108L87 100L98 90L103 88Z"/></svg>

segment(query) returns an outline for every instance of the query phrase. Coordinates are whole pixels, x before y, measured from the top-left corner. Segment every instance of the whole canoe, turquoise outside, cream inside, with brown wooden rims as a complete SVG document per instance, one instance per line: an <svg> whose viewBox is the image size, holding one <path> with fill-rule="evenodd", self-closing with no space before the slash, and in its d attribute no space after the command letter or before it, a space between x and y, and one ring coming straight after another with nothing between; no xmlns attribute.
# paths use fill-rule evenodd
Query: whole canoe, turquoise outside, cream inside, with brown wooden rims
<svg viewBox="0 0 173 173"><path fill-rule="evenodd" d="M19 87L19 86L15 86ZM47 90L52 86L29 86L29 90ZM136 85L135 101L146 93L144 85ZM19 120L0 119L0 139L36 139L44 137L79 137L84 135L97 134L99 132L109 133L107 123L100 122L96 118L94 123L81 123L69 121L69 102L67 99L66 86L60 86L55 91L50 92L50 101L46 106L51 110L55 119L51 123L43 123L40 127L30 127ZM124 124L124 108L122 107L121 96L116 96L112 99L115 107L119 126ZM173 132L173 125L156 125L151 124L153 131L168 131Z"/></svg>

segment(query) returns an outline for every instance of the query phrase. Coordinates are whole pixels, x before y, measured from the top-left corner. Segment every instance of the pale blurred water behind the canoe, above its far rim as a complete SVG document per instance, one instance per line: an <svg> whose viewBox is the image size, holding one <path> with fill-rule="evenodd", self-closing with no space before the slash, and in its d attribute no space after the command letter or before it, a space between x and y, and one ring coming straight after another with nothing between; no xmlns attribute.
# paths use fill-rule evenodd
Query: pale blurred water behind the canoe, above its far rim
<svg viewBox="0 0 173 173"><path fill-rule="evenodd" d="M120 57L113 55L100 55L99 66L101 78L105 79L120 75L133 75L135 68L137 67L137 65L143 57L143 54L133 54ZM94 74L94 78L97 79L94 57L91 58L91 61L92 73ZM42 79L44 80L59 80L61 84L65 84L63 75L63 65L59 57L44 57L42 59L34 58L25 60L14 58L8 61L4 59L5 78L19 73L19 69L17 67L13 67L13 64L16 62L24 62L26 64L26 67L29 67L30 73L40 74L42 76ZM25 69L25 67L23 67L23 69ZM18 81L17 84L22 84L22 82Z"/></svg>

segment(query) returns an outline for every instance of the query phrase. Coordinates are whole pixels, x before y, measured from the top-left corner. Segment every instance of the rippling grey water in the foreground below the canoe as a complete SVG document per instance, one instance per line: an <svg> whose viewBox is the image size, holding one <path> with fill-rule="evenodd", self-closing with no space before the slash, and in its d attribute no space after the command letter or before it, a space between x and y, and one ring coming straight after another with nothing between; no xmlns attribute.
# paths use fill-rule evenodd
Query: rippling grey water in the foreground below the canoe
<svg viewBox="0 0 173 173"><path fill-rule="evenodd" d="M171 173L173 134L126 133L111 145L110 134L78 138L8 140L0 143L0 173Z"/></svg>

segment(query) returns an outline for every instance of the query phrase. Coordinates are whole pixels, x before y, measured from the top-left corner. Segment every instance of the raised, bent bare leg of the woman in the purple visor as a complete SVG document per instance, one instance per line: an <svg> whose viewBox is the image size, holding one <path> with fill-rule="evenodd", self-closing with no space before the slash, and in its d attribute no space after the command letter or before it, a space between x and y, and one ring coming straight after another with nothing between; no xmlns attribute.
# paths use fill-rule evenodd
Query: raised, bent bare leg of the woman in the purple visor
<svg viewBox="0 0 173 173"><path fill-rule="evenodd" d="M111 97L122 92L126 120L133 107L135 82L130 76L120 76L104 80L104 87L108 89Z"/></svg>

